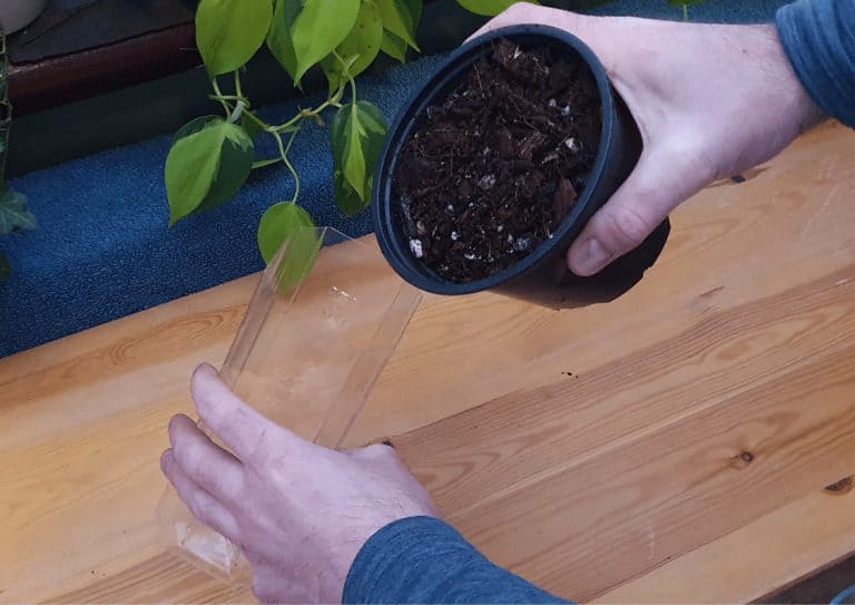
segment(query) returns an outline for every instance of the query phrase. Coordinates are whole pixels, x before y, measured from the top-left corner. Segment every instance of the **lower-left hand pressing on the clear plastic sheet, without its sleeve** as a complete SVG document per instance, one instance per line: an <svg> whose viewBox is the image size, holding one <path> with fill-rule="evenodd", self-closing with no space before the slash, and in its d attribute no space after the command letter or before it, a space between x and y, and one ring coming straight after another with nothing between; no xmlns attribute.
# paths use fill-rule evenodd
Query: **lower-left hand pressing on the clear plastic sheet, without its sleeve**
<svg viewBox="0 0 855 605"><path fill-rule="evenodd" d="M169 422L160 467L204 524L235 543L267 603L338 603L367 539L406 517L439 516L392 448L333 451L274 425L232 393L210 365L193 375L202 421Z"/></svg>

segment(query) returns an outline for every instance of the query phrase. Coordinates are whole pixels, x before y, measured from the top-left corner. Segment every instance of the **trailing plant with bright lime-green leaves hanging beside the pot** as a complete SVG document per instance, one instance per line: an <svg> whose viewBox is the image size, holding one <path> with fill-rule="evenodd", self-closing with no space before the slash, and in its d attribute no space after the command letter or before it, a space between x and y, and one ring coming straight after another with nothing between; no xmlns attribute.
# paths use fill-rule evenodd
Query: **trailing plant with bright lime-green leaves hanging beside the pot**
<svg viewBox="0 0 855 605"><path fill-rule="evenodd" d="M456 1L490 17L515 0ZM700 0L669 1L686 11ZM364 211L387 126L377 107L360 100L355 78L381 52L404 62L410 49L417 51L421 16L422 0L200 0L196 43L210 79L210 98L222 106L223 115L196 118L175 136L165 170L169 224L220 206L254 169L282 164L294 180L294 195L272 205L258 225L258 247L269 262L294 230L314 225L298 205L299 174L289 153L305 124L325 126L327 110L334 111L328 131L335 202L348 216ZM240 82L246 64L264 46L298 88L311 69L320 68L328 82L326 99L284 124L265 121ZM228 80L232 89L224 92L222 80ZM256 157L259 136L274 139L276 157Z"/></svg>

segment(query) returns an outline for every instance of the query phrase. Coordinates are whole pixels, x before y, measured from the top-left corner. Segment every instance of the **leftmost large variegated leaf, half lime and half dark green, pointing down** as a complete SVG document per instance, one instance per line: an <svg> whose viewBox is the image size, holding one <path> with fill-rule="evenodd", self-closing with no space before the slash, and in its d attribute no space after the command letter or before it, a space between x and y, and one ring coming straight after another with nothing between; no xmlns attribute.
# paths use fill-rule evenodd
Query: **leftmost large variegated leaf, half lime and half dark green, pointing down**
<svg viewBox="0 0 855 605"><path fill-rule="evenodd" d="M178 131L166 158L169 225L234 196L253 167L253 139L222 118L197 118Z"/></svg>

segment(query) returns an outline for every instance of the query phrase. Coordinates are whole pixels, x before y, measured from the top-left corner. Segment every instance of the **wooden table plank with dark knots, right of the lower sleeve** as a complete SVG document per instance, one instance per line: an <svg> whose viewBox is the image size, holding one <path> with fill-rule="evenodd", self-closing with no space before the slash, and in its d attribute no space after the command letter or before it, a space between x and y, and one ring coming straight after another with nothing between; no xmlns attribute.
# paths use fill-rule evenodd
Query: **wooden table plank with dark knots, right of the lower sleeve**
<svg viewBox="0 0 855 605"><path fill-rule="evenodd" d="M855 468L853 352L570 458L449 518L499 565L588 601ZM509 442L521 441L507 435L480 456Z"/></svg>

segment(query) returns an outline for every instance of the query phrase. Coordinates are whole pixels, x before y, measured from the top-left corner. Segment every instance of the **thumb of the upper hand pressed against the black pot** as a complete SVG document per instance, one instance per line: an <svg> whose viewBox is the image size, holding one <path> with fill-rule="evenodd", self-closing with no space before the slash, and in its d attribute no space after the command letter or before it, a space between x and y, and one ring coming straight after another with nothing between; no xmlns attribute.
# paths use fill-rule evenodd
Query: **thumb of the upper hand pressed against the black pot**
<svg viewBox="0 0 855 605"><path fill-rule="evenodd" d="M599 272L640 245L675 207L707 184L705 170L679 158L666 150L642 153L629 178L570 246L570 271L581 276Z"/></svg>

